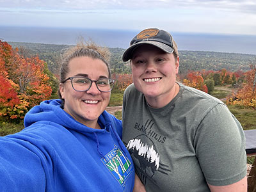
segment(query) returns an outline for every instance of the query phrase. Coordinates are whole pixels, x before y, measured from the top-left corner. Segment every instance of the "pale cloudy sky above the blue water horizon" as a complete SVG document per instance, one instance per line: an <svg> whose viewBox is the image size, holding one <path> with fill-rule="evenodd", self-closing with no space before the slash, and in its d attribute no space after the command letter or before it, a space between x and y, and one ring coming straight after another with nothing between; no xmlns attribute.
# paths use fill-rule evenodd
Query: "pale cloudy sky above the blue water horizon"
<svg viewBox="0 0 256 192"><path fill-rule="evenodd" d="M256 35L256 1L0 0L0 26Z"/></svg>

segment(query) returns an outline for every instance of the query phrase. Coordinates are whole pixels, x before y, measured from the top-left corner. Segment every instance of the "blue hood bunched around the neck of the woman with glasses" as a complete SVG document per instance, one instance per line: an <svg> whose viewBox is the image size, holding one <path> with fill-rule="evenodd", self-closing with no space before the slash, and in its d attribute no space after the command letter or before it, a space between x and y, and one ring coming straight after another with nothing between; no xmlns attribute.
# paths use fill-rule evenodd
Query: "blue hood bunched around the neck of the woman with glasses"
<svg viewBox="0 0 256 192"><path fill-rule="evenodd" d="M29 127L38 122L44 122L44 124L61 125L66 129L71 129L86 135L90 134L90 137L97 142L97 150L100 156L103 156L103 154L100 150L99 136L106 135L106 132L110 132L111 135L116 138L122 150L125 151L121 140L122 122L120 120L116 120L113 115L103 111L98 118L98 124L102 129L93 129L74 120L72 116L61 108L61 102L62 100L60 99L45 100L41 102L39 106L33 107L24 118L25 127ZM116 129L116 127L121 127L121 129Z"/></svg>

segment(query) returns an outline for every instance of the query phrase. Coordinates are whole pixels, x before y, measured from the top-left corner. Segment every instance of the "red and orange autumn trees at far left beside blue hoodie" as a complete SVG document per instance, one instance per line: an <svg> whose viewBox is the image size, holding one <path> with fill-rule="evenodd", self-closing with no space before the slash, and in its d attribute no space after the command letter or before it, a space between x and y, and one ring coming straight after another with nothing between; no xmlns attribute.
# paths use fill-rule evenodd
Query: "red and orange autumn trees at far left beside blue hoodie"
<svg viewBox="0 0 256 192"><path fill-rule="evenodd" d="M22 119L29 108L51 97L44 61L23 58L0 40L0 116Z"/></svg>

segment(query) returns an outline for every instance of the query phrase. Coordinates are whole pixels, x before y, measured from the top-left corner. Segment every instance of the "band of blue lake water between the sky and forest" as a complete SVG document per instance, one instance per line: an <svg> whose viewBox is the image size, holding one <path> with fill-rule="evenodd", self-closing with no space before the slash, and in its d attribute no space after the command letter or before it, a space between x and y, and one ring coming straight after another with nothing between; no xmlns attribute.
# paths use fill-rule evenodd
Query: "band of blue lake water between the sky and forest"
<svg viewBox="0 0 256 192"><path fill-rule="evenodd" d="M32 42L42 44L74 45L79 37L90 39L106 47L126 48L140 31L79 29L79 28L35 28L0 26L0 38L6 42ZM169 31L172 33L172 31ZM179 50L216 51L256 54L256 36L216 35L202 33L172 33Z"/></svg>

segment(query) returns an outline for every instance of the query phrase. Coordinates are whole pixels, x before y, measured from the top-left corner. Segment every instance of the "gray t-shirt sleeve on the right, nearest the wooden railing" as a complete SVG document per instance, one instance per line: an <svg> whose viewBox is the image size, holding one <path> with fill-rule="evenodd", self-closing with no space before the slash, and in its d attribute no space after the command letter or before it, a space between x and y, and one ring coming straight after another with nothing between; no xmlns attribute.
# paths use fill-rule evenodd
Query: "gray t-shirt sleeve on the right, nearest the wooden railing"
<svg viewBox="0 0 256 192"><path fill-rule="evenodd" d="M225 186L245 177L244 131L224 104L216 105L204 116L194 146L208 184Z"/></svg>

